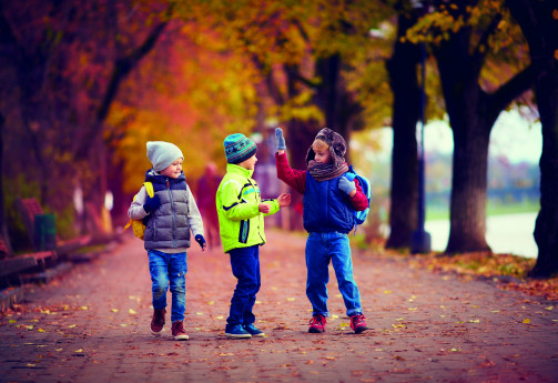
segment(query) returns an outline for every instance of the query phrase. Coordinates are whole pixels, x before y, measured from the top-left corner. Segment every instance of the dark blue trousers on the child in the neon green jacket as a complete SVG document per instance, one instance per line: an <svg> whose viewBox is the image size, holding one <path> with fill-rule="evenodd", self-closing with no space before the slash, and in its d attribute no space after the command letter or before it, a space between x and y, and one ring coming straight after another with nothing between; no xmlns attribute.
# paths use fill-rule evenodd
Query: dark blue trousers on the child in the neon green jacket
<svg viewBox="0 0 558 383"><path fill-rule="evenodd" d="M231 269L237 279L231 299L231 311L226 323L252 324L255 321L252 309L256 302L256 293L262 285L260 275L260 246L233 249L231 255Z"/></svg>

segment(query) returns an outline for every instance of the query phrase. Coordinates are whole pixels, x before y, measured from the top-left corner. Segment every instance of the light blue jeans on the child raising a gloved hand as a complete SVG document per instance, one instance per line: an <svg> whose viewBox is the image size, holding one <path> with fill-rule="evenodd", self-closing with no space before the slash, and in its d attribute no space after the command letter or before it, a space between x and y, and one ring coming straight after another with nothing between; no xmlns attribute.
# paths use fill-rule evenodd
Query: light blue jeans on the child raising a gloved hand
<svg viewBox="0 0 558 383"><path fill-rule="evenodd" d="M339 232L310 233L306 241L306 296L312 303L313 316L328 316L327 282L332 261L347 316L362 314L361 293L353 279L353 260L346 234Z"/></svg>

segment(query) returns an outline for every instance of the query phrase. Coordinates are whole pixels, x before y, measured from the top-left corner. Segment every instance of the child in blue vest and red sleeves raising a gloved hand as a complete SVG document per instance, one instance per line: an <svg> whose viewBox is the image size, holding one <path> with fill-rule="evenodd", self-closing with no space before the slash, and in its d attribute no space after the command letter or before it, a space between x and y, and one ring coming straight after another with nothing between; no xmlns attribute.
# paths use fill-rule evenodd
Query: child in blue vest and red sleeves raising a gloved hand
<svg viewBox="0 0 558 383"><path fill-rule="evenodd" d="M345 163L346 143L331 129L322 129L306 155L307 170L291 169L285 154L285 139L281 128L275 129L277 177L303 196L306 241L306 296L313 314L308 332L325 331L327 311L327 282L329 261L335 270L341 294L351 318L351 327L357 334L368 330L361 305L358 286L353 279L353 260L347 234L355 226L353 211L368 208L368 200L357 180L348 181Z"/></svg>

